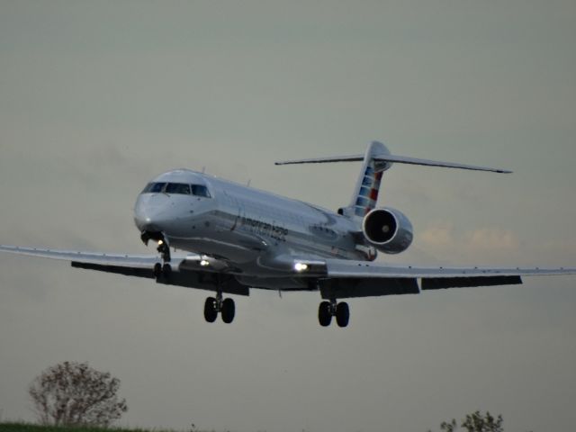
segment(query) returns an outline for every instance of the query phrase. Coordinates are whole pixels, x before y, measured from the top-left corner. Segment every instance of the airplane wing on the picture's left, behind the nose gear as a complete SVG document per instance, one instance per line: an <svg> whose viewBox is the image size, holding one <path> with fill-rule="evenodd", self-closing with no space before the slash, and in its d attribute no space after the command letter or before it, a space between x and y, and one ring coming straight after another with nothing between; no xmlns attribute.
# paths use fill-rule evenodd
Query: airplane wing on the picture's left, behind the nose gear
<svg viewBox="0 0 576 432"><path fill-rule="evenodd" d="M246 286L238 284L234 277L226 274L228 269L224 263L200 255L173 256L170 261L173 268L170 277L157 277L154 273L154 266L161 263L161 259L157 255L104 254L5 245L0 245L0 252L68 261L76 268L155 279L157 284L185 286L209 291L214 291L216 284L220 284L222 293L249 294ZM202 266L202 261L208 262L210 266ZM215 273L220 275L219 278L214 277Z"/></svg>

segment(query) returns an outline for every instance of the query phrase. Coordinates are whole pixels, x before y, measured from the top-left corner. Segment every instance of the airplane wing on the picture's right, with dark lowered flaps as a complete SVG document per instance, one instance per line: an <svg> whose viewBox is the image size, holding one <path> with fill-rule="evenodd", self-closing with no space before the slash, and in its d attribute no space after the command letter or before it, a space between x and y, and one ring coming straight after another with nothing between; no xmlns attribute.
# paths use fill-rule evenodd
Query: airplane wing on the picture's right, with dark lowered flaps
<svg viewBox="0 0 576 432"><path fill-rule="evenodd" d="M522 276L576 275L576 268L389 266L365 261L327 259L324 272L320 284L322 297L340 299L417 294L420 291L445 288L522 284Z"/></svg>

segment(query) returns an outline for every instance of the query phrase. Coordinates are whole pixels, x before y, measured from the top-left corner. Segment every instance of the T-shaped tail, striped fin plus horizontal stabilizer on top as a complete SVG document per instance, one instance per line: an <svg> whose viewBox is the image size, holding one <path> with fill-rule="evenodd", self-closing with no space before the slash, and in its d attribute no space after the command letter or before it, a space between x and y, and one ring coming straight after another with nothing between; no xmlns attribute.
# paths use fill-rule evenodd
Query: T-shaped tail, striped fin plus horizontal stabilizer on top
<svg viewBox="0 0 576 432"><path fill-rule="evenodd" d="M362 161L362 170L356 182L356 188L352 200L347 207L340 209L340 213L354 219L363 219L365 215L376 207L378 193L382 182L383 172L393 164L408 164L421 166L441 166L445 168L470 169L473 171L489 171L492 173L511 173L511 171L486 166L473 166L442 162L437 160L419 159L416 157L396 156L382 142L370 143L364 155L318 157L313 159L287 160L276 162L276 165L291 164L322 164L329 162L354 162Z"/></svg>

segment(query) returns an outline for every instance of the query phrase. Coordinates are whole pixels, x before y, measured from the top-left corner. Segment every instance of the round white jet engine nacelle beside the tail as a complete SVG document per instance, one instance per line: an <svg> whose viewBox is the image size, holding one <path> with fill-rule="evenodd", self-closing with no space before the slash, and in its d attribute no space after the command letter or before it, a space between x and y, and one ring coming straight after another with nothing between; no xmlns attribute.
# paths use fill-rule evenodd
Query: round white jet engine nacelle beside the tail
<svg viewBox="0 0 576 432"><path fill-rule="evenodd" d="M365 238L385 254L399 254L412 243L412 224L395 209L374 209L362 222Z"/></svg>

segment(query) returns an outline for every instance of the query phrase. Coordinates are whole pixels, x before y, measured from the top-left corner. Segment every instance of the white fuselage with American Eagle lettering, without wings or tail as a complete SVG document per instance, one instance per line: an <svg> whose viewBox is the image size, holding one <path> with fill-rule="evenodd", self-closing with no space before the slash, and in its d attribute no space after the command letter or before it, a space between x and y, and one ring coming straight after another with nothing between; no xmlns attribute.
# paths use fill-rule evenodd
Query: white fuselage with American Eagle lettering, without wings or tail
<svg viewBox="0 0 576 432"><path fill-rule="evenodd" d="M191 193L169 193L184 184ZM266 267L277 273L281 256L368 258L353 236L359 224L333 211L184 169L149 186L156 192L141 193L134 211L141 232L160 232L171 247L225 260L245 274L253 268L262 275Z"/></svg>

